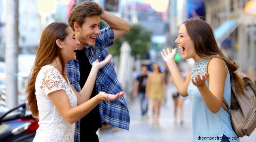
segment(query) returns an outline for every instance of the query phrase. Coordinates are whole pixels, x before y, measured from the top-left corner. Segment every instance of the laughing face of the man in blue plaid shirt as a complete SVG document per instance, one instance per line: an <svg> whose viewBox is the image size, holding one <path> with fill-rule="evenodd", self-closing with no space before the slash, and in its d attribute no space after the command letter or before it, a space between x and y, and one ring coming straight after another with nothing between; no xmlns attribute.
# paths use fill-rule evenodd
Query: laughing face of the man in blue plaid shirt
<svg viewBox="0 0 256 142"><path fill-rule="evenodd" d="M76 30L76 37L81 42L81 47L85 45L94 46L96 37L100 34L100 16L85 17L84 23ZM81 48L83 49L83 48Z"/></svg>

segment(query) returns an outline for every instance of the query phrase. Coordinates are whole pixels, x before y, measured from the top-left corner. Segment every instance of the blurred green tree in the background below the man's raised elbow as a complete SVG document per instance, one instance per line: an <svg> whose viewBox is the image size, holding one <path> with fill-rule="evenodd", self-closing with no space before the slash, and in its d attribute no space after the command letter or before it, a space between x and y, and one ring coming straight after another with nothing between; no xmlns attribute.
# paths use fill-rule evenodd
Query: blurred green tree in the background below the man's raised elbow
<svg viewBox="0 0 256 142"><path fill-rule="evenodd" d="M153 31L144 29L139 24L133 24L130 31L124 36L114 40L113 45L108 47L109 54L120 55L120 47L124 41L128 41L131 47L131 53L135 55L148 55L151 46L150 37Z"/></svg>

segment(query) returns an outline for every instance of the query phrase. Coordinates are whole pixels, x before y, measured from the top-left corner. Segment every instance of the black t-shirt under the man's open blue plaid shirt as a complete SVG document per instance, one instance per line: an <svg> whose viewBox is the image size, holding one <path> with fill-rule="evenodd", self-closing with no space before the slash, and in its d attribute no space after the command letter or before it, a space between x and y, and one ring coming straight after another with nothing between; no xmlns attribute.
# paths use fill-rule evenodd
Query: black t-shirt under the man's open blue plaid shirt
<svg viewBox="0 0 256 142"><path fill-rule="evenodd" d="M79 71L80 71L80 87L81 89L85 85L85 82L90 74L90 71L92 69L92 65L90 64L87 56L85 55L85 52L83 50L75 50L77 60L79 61ZM96 92L96 84L94 83L94 87L92 90L92 97L97 95ZM100 121L100 112L99 112L99 106L97 105L92 111L90 111L85 117L81 119L80 122L80 134L84 134L83 132L87 131L86 129L97 129L102 127L101 121Z"/></svg>

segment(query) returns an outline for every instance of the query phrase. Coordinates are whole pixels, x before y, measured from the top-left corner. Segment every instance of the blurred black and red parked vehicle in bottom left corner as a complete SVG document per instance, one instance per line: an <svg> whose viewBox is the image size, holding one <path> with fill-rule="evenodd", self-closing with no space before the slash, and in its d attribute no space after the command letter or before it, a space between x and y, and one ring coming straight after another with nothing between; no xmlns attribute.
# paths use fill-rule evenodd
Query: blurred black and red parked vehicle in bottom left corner
<svg viewBox="0 0 256 142"><path fill-rule="evenodd" d="M0 108L0 142L32 142L38 127L38 119L26 111L25 103L8 111Z"/></svg>

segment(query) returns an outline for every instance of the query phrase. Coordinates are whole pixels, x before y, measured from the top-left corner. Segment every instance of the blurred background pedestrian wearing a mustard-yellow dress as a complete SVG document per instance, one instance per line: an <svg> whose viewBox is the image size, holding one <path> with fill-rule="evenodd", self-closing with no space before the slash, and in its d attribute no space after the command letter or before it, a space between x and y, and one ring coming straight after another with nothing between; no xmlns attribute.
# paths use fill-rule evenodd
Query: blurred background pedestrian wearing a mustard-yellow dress
<svg viewBox="0 0 256 142"><path fill-rule="evenodd" d="M147 78L146 97L149 98L152 107L152 123L158 124L160 107L165 94L165 78L160 72L158 64L154 64L152 72Z"/></svg>

